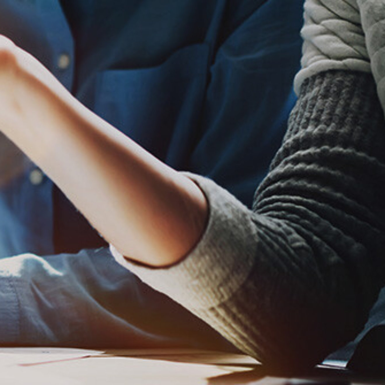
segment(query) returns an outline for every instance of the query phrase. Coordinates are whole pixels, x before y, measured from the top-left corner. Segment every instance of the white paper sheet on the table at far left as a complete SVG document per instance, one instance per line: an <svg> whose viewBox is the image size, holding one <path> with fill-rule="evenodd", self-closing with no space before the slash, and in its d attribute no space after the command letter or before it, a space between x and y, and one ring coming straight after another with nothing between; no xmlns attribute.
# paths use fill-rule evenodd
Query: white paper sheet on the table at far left
<svg viewBox="0 0 385 385"><path fill-rule="evenodd" d="M72 348L0 348L0 367L38 365L102 354L99 350Z"/></svg>

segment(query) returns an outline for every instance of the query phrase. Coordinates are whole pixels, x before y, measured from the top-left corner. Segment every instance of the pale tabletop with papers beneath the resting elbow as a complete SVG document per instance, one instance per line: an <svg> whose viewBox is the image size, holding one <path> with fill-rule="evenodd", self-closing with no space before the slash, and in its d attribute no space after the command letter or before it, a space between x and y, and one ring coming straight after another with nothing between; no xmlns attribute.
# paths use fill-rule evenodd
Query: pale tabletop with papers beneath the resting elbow
<svg viewBox="0 0 385 385"><path fill-rule="evenodd" d="M384 383L346 370L317 368L295 378L267 373L252 358L199 350L89 351L55 348L0 349L3 385L310 385Z"/></svg>

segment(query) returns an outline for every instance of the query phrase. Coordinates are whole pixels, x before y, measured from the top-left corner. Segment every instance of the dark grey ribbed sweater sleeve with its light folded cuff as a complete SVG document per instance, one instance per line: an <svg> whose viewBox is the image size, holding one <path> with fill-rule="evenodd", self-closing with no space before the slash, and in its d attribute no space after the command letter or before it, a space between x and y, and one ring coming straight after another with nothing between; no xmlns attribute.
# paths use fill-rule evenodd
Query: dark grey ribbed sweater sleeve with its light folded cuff
<svg viewBox="0 0 385 385"><path fill-rule="evenodd" d="M115 258L260 361L314 365L357 334L384 282L384 148L371 74L308 77L252 211L191 176L210 205L191 254L165 269Z"/></svg>

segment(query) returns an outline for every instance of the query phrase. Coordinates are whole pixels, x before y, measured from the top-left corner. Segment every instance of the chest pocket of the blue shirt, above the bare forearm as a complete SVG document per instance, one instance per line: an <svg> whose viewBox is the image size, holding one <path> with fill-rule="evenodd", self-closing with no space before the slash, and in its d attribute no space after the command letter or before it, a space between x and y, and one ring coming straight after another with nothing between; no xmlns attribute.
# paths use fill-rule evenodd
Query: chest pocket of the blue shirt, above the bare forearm
<svg viewBox="0 0 385 385"><path fill-rule="evenodd" d="M95 112L173 167L184 168L197 135L209 46L177 50L162 64L97 75Z"/></svg>

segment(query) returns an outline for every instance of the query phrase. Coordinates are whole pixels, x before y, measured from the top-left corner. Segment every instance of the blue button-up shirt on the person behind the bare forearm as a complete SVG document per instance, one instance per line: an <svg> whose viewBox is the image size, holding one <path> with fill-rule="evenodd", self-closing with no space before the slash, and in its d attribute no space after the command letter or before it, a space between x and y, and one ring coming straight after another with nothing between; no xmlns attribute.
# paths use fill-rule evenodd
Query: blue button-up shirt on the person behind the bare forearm
<svg viewBox="0 0 385 385"><path fill-rule="evenodd" d="M0 0L0 33L159 159L251 206L295 102L302 6ZM0 149L1 342L225 345L98 248L84 218L4 137ZM55 232L66 253L55 255Z"/></svg>

